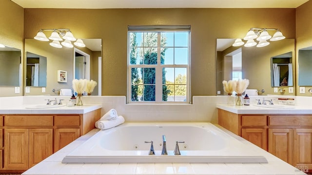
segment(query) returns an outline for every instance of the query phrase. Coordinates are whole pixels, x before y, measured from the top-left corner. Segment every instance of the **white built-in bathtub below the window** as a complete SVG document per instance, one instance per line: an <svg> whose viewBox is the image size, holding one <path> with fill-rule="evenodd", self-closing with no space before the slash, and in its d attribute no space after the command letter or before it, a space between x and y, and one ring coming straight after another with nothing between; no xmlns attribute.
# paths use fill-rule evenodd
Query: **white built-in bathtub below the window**
<svg viewBox="0 0 312 175"><path fill-rule="evenodd" d="M161 155L162 135L168 155ZM154 142L155 155L149 155ZM176 141L181 155L174 155ZM98 131L62 163L268 163L211 123L124 123Z"/></svg>

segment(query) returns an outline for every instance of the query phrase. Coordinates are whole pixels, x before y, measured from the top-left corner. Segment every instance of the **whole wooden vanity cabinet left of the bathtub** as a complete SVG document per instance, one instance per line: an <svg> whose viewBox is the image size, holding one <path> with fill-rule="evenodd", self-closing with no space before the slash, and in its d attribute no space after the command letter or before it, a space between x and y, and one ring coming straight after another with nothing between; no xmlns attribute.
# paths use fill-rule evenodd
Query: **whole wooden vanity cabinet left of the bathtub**
<svg viewBox="0 0 312 175"><path fill-rule="evenodd" d="M94 129L99 118L100 109L85 114L0 115L0 172L31 168Z"/></svg>

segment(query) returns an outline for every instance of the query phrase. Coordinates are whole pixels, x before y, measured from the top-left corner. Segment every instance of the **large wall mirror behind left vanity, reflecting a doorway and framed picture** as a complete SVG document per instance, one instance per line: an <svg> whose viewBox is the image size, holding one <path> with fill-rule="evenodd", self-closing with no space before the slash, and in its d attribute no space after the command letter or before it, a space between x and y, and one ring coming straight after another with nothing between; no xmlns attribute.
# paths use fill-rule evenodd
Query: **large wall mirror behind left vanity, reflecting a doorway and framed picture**
<svg viewBox="0 0 312 175"><path fill-rule="evenodd" d="M26 55L32 54L31 57L39 57L43 56L42 59L39 60L39 63L30 62L27 58L27 62L33 66L33 64L39 64L39 70L41 67L41 63L46 60L46 85L43 90L39 86L29 86L30 92L25 92L25 96L28 95L59 95L60 89L72 89L72 80L75 78L75 59L76 53L79 51L80 53L84 53L88 55L88 60L84 61L85 66L88 68L82 72L84 72L88 79L93 79L97 82L100 81L99 75L101 75L101 69L99 69L99 58L101 58L101 39L82 39L85 43L86 47L77 47L77 48L55 48L49 45L51 41L39 41L36 39L25 39L25 51ZM35 56L36 55L36 56ZM32 58L33 59L33 58ZM37 59L38 60L38 59ZM26 62L26 61L25 61ZM27 64L28 64L27 63ZM28 67L28 65L26 65ZM35 65L34 65L35 66ZM28 68L27 72L28 72ZM31 68L35 69L35 68ZM31 72L31 69L29 72ZM58 72L64 71L67 73L66 81L58 80ZM86 73L85 71L88 71ZM26 74L26 73L25 73ZM28 74L28 73L27 73ZM39 77L41 76L41 72L39 72ZM25 77L25 81L28 81L28 78ZM40 81L39 81L40 83ZM28 85L27 85L28 86ZM92 95L98 95L98 85L96 86Z"/></svg>

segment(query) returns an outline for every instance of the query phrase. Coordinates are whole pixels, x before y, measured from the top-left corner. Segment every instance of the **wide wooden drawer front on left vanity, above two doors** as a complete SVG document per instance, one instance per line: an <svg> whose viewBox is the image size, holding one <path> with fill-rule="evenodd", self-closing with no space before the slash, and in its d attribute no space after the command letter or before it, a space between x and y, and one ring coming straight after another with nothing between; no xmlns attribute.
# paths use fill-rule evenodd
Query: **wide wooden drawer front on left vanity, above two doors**
<svg viewBox="0 0 312 175"><path fill-rule="evenodd" d="M4 126L53 126L53 116L5 116Z"/></svg>

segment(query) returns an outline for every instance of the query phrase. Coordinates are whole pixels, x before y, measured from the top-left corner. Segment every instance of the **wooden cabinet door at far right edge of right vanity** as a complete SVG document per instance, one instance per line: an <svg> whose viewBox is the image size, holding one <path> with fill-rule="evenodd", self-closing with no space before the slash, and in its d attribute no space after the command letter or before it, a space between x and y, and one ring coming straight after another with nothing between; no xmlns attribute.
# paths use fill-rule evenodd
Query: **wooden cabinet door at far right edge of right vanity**
<svg viewBox="0 0 312 175"><path fill-rule="evenodd" d="M312 169L312 129L293 129L293 166Z"/></svg>

